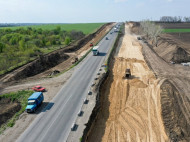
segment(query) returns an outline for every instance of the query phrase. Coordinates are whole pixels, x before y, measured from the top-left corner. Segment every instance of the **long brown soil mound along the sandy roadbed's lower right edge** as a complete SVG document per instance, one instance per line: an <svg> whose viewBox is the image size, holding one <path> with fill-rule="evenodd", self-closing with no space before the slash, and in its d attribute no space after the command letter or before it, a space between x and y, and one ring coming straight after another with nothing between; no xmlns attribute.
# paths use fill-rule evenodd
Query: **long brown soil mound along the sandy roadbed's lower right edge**
<svg viewBox="0 0 190 142"><path fill-rule="evenodd" d="M169 81L165 81L161 86L161 103L162 116L167 135L171 140L189 141L190 125L186 121L184 114L181 112L181 105L188 103L189 99L183 102L181 94ZM184 108L185 109L185 108Z"/></svg>

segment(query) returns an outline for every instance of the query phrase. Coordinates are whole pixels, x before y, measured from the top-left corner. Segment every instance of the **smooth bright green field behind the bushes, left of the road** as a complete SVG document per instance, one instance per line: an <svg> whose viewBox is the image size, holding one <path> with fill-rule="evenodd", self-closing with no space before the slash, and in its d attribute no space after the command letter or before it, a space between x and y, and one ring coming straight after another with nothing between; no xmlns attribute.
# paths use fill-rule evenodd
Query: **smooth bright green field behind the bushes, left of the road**
<svg viewBox="0 0 190 142"><path fill-rule="evenodd" d="M2 28L9 28L12 30L16 30L19 28L27 28L32 27L35 29L42 29L42 30L53 30L57 26L61 27L61 30L65 31L82 31L84 34L90 34L95 32L98 28L100 28L105 23L84 23L84 24L44 24L44 25L33 25L33 26L19 26L19 27L1 27Z"/></svg>

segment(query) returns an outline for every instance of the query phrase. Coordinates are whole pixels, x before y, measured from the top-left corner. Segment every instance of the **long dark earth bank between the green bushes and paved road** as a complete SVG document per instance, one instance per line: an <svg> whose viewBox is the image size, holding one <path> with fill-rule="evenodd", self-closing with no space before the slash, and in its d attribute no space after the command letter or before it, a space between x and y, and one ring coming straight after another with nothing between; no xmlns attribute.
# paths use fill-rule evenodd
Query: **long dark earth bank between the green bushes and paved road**
<svg viewBox="0 0 190 142"><path fill-rule="evenodd" d="M106 33L107 29L110 28L110 26L113 23L108 23L103 25L100 29L98 29L95 33L90 34L79 41L61 48L59 50L56 50L54 52L51 52L47 55L42 55L38 59L34 60L31 63L28 63L24 65L21 68L18 68L14 70L11 73L8 73L4 76L0 77L0 82L1 83L6 83L10 81L18 81L27 77L31 77L34 75L37 75L39 73L42 73L46 70L51 69L52 67L55 67L56 65L59 65L62 62L67 62L67 64L72 65L71 60L75 57L77 57L77 54L75 53L76 51L79 51L82 47L84 47L89 41L96 43L98 40L100 40L103 36L103 34ZM88 49L89 49L89 44L88 44ZM87 50L86 48L81 49L79 52L81 53L82 51ZM71 54L73 53L73 54ZM68 68L69 65L65 65L64 69ZM63 71L64 69L61 69L60 71ZM51 73L51 72L49 72ZM48 74L46 74L48 76ZM39 78L40 76L38 76ZM43 76L44 77L44 76Z"/></svg>

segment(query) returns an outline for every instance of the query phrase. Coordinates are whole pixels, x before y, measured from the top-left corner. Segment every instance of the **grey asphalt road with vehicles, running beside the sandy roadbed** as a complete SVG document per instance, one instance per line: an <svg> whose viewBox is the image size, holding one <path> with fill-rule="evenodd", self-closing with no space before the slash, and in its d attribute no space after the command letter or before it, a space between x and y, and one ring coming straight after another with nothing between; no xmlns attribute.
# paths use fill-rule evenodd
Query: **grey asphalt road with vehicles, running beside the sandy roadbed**
<svg viewBox="0 0 190 142"><path fill-rule="evenodd" d="M71 78L16 140L17 142L64 142L67 140L88 90L117 37L117 33L110 34L110 32L107 34L108 40L104 37L98 44L100 54L93 56L90 53L77 66Z"/></svg>

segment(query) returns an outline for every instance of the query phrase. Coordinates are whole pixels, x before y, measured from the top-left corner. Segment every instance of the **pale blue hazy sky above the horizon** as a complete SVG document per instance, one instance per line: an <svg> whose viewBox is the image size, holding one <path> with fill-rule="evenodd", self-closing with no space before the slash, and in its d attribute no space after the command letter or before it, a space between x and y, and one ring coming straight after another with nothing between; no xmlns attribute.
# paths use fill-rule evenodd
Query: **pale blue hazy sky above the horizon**
<svg viewBox="0 0 190 142"><path fill-rule="evenodd" d="M190 17L190 0L0 0L0 23L99 23Z"/></svg>

